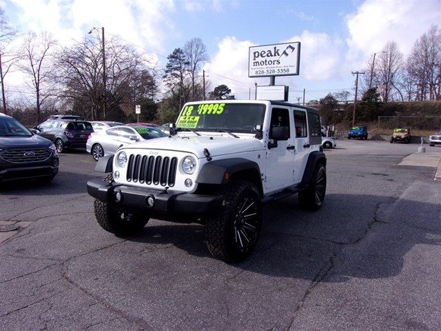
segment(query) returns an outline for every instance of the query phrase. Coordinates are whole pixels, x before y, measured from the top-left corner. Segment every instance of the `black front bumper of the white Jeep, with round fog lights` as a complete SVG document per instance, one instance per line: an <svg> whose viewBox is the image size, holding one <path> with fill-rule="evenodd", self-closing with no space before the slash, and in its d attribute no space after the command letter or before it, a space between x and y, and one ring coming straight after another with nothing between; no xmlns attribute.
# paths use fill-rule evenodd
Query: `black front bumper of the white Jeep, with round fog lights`
<svg viewBox="0 0 441 331"><path fill-rule="evenodd" d="M88 194L95 199L125 212L145 212L150 217L169 215L170 218L183 214L204 216L220 212L223 197L195 194L173 190L152 190L116 183L105 183L100 179L88 181ZM119 197L119 198L117 198Z"/></svg>

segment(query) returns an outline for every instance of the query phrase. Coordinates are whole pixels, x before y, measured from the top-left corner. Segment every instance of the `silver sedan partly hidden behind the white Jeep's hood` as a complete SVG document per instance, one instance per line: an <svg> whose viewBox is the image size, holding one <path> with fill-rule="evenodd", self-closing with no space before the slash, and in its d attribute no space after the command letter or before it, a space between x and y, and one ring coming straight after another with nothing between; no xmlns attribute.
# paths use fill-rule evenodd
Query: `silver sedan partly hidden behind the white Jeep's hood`
<svg viewBox="0 0 441 331"><path fill-rule="evenodd" d="M121 146L136 141L167 137L167 134L150 126L114 126L99 132L92 132L86 143L86 150L95 161L105 155L113 155Z"/></svg>

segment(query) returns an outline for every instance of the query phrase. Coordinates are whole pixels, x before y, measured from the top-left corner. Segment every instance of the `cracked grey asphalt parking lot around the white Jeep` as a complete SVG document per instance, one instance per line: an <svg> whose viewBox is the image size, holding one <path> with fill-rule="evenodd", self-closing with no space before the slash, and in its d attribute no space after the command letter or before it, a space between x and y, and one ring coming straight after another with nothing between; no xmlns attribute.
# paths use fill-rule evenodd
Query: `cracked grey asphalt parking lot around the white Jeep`
<svg viewBox="0 0 441 331"><path fill-rule="evenodd" d="M337 141L318 212L265 207L256 252L213 259L203 227L94 219L83 151L52 183L1 188L1 330L439 330L441 147Z"/></svg>

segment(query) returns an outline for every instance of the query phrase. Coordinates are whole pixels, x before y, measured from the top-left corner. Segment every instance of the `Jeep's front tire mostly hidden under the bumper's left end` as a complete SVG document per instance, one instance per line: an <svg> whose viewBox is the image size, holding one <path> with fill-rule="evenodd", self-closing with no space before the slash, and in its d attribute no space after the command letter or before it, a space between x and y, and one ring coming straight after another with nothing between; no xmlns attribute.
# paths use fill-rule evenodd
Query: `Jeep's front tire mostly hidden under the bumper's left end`
<svg viewBox="0 0 441 331"><path fill-rule="evenodd" d="M112 174L107 175L103 181L112 182ZM107 232L121 235L135 234L144 228L149 221L149 218L116 210L108 203L98 199L94 200L94 214L101 228Z"/></svg>

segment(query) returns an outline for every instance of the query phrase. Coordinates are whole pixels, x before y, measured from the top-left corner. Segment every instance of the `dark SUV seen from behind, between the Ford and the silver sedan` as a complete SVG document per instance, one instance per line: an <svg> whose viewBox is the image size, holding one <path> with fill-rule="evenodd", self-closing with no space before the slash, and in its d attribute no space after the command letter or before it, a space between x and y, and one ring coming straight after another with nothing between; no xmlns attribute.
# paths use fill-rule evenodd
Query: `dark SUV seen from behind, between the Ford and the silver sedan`
<svg viewBox="0 0 441 331"><path fill-rule="evenodd" d="M34 127L35 133L55 144L57 152L65 148L85 148L89 134L94 132L92 124L79 119L48 119Z"/></svg>

